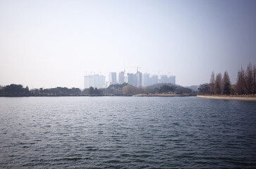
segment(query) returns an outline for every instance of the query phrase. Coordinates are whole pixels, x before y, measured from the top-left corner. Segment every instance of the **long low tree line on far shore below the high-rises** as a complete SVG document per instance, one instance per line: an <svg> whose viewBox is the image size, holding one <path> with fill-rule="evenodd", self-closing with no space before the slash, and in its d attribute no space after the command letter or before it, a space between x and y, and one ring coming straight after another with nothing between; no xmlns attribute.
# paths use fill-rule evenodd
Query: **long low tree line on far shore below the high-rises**
<svg viewBox="0 0 256 169"><path fill-rule="evenodd" d="M0 86L0 96L132 96L134 94L191 94L191 89L174 84L154 84L149 87L134 87L128 83L111 84L106 89L55 87L29 89L21 84Z"/></svg>

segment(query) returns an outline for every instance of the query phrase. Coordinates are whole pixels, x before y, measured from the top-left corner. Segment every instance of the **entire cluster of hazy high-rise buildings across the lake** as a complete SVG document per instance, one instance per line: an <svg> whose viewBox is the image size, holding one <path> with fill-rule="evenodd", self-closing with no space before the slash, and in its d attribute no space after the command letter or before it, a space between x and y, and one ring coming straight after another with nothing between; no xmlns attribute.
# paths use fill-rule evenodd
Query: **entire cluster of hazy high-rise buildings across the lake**
<svg viewBox="0 0 256 169"><path fill-rule="evenodd" d="M152 84L157 83L172 83L176 84L176 77L173 75L151 75L150 73L127 73L122 71L118 73L118 78L116 73L109 73L109 81L106 82L106 77L104 75L85 75L84 76L84 88L97 87L106 88L111 84L123 84L127 82L135 87L147 87Z"/></svg>

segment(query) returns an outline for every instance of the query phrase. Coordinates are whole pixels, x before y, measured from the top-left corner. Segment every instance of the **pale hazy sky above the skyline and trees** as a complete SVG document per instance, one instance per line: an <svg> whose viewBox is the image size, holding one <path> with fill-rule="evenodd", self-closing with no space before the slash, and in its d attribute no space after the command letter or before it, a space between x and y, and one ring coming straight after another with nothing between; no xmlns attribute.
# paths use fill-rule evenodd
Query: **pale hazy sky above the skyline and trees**
<svg viewBox="0 0 256 169"><path fill-rule="evenodd" d="M176 75L256 63L256 1L0 0L0 85L80 87L83 75L126 70Z"/></svg>

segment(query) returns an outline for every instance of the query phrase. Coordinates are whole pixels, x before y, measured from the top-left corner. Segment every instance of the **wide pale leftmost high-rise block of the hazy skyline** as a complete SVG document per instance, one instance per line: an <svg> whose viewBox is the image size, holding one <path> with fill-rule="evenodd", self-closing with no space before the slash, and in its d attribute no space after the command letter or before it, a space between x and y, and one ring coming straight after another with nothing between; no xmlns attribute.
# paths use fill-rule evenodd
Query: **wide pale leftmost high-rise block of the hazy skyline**
<svg viewBox="0 0 256 169"><path fill-rule="evenodd" d="M90 87L104 88L105 76L104 75L85 75L84 89L87 89Z"/></svg>

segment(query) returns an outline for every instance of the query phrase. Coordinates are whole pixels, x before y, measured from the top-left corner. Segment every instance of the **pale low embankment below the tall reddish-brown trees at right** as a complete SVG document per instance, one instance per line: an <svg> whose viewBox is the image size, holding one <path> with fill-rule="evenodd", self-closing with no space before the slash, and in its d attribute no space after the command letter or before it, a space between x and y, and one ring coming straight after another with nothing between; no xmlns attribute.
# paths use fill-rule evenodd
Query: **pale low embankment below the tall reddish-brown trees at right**
<svg viewBox="0 0 256 169"><path fill-rule="evenodd" d="M239 101L256 101L256 96L243 96L243 95L238 95L238 96L212 96L212 95L197 95L199 98L204 98L204 99L221 99L221 100L239 100Z"/></svg>

